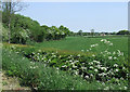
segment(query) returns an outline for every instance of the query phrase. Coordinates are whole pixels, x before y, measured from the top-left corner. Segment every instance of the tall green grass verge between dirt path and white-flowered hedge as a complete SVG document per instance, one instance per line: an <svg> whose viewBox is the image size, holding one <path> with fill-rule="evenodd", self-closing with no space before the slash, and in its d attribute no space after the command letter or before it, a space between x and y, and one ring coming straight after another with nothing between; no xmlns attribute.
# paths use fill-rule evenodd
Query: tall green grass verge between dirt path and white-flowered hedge
<svg viewBox="0 0 130 92"><path fill-rule="evenodd" d="M110 90L120 90L122 86L126 86L125 83L118 86L96 81L88 82L78 76L44 66L40 62L32 63L8 49L3 49L2 67L8 76L18 77L21 84L34 87L41 92L42 90L108 90L107 87L112 87Z"/></svg>

